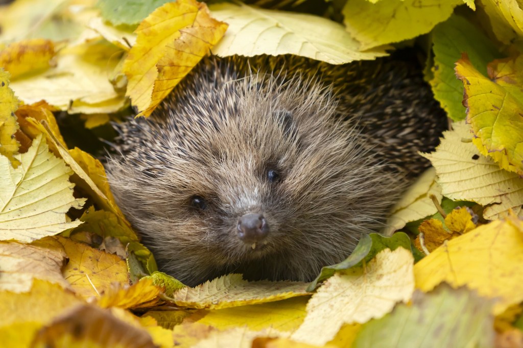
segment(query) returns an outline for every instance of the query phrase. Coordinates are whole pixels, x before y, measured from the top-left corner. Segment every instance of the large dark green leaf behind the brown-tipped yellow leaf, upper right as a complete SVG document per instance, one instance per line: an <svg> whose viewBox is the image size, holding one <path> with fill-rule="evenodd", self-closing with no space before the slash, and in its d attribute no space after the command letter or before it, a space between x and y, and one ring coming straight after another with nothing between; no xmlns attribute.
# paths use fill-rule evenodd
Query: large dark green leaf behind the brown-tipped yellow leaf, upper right
<svg viewBox="0 0 523 348"><path fill-rule="evenodd" d="M434 78L430 80L430 86L434 97L452 120L463 120L466 116L462 105L463 85L454 74L454 64L460 59L461 53L465 52L474 66L486 72L487 63L499 57L499 53L479 28L456 15L437 25L432 37Z"/></svg>

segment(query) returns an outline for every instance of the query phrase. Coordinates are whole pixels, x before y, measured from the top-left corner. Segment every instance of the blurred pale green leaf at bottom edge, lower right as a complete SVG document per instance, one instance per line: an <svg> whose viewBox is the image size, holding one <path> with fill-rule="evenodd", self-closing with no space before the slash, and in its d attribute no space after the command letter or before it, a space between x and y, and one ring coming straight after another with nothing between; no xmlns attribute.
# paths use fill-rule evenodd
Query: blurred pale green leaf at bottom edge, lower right
<svg viewBox="0 0 523 348"><path fill-rule="evenodd" d="M492 347L491 308L492 301L464 287L418 291L412 304L363 324L353 347Z"/></svg>

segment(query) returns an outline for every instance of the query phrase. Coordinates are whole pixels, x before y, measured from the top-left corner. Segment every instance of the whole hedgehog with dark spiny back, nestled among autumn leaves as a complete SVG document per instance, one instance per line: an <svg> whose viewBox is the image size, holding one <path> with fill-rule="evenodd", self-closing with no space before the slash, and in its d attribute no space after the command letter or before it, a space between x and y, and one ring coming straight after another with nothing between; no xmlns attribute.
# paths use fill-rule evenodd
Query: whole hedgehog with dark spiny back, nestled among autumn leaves
<svg viewBox="0 0 523 348"><path fill-rule="evenodd" d="M108 180L164 271L311 281L377 232L445 129L395 58L204 58L150 118L115 125Z"/></svg>

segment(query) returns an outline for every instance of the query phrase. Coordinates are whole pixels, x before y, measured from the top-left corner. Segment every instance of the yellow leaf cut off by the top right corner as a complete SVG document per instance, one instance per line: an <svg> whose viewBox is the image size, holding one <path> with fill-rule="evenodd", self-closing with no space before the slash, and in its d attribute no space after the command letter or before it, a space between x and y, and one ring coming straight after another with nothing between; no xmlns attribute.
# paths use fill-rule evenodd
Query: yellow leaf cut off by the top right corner
<svg viewBox="0 0 523 348"><path fill-rule="evenodd" d="M518 0L481 0L497 39L511 44L523 37L523 6Z"/></svg>

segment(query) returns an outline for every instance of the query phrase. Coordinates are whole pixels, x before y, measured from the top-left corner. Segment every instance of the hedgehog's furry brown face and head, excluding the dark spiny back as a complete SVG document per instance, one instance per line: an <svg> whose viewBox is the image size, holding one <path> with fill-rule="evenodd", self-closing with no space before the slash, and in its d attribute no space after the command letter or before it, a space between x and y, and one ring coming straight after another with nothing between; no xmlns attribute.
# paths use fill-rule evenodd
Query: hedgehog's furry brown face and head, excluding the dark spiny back
<svg viewBox="0 0 523 348"><path fill-rule="evenodd" d="M226 273L310 281L379 228L399 180L354 124L336 120L328 89L208 79L131 121L122 140L142 146L108 161L117 201L162 271L187 285Z"/></svg>

